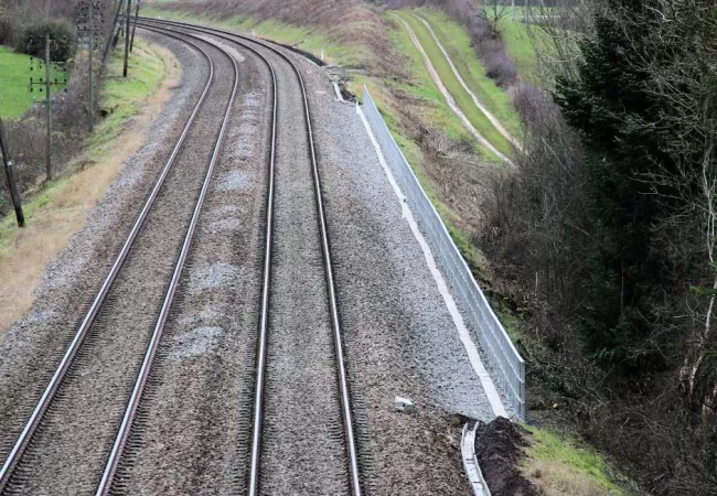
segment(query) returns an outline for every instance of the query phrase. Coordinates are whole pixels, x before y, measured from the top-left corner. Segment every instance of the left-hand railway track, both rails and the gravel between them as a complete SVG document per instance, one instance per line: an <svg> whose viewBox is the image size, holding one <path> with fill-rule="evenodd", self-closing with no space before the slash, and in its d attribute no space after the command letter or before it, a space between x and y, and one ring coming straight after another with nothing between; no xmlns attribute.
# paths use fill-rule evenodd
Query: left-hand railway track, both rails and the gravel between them
<svg viewBox="0 0 717 496"><path fill-rule="evenodd" d="M1 494L106 494L111 486L110 464L104 474L103 466L110 449L110 462L121 454L119 435L131 424L161 339L238 83L238 67L226 51L182 41L204 58L206 84L109 273L3 460ZM119 441L113 443L116 435Z"/></svg>

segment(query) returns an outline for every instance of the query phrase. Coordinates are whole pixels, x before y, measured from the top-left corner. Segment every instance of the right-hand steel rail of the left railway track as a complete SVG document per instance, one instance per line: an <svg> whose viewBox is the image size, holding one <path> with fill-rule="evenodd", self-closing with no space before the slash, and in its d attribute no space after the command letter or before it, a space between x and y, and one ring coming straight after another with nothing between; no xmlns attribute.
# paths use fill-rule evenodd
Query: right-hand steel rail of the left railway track
<svg viewBox="0 0 717 496"><path fill-rule="evenodd" d="M173 34L169 34L165 32L165 30L157 29L157 28L147 28L143 26L148 31L153 31L156 33L163 34L165 36L174 37L178 40L183 41L184 43L190 43L186 40L182 40L180 36L175 36ZM127 409L125 410L125 414L122 417L122 421L119 425L119 429L117 431L117 436L115 438L115 443L113 444L111 452L109 454L109 457L107 460L107 464L105 465L105 471L103 472L103 477L99 482L99 485L97 487L97 492L95 493L96 496L106 496L109 494L113 481L115 478L115 473L117 471L117 466L119 464L119 461L121 459L122 452L125 450L125 445L127 444L127 440L130 434L130 430L132 427L132 423L135 421L135 417L137 414L137 409L139 407L139 403L142 398L142 393L145 391L145 387L147 385L147 379L149 378L149 374L152 367L152 364L154 362L154 357L157 356L157 351L159 348L160 341L162 338L162 333L164 330L164 325L167 324L167 320L169 317L170 309L172 306L172 302L174 300L174 295L176 293L176 290L180 284L180 278L182 277L182 271L184 269L184 265L186 262L186 259L189 257L189 251L192 245L192 239L194 237L194 231L196 230L196 224L199 223L200 215L202 213L202 207L204 206L204 201L206 198L206 194L210 188L210 184L212 182L212 176L214 174L214 169L216 166L216 162L218 160L222 144L224 142L224 136L226 133L226 128L229 122L229 117L232 114L232 109L234 107L234 101L236 98L238 85L239 85L239 67L236 63L236 60L226 51L224 50L218 43L212 43L207 42L206 40L202 40L199 36L194 36L192 34L186 34L186 36L193 37L195 40L201 40L204 43L207 43L215 48L220 50L226 57L232 62L234 66L234 86L232 88L232 96L229 98L229 101L226 106L226 110L224 112L224 118L222 119L222 127L220 129L220 133L217 136L216 142L214 144L214 151L212 153L212 159L210 161L210 165L206 170L206 174L204 176L204 182L202 183L202 190L200 192L200 196L196 200L196 205L194 206L194 212L192 213L192 219L190 220L189 228L186 230L186 235L184 237L184 242L182 244L182 249L180 251L180 255L178 257L176 263L174 266L174 271L172 273L172 279L170 281L170 285L167 289L167 294L164 295L164 301L162 302L162 308L160 310L159 317L157 319L157 324L154 325L154 330L152 332L152 337L150 339L150 343L147 347L147 352L145 354L145 359L142 360L142 366L139 370L139 374L137 375L137 380L135 382L135 387L132 389L132 393L129 398L129 401L127 403ZM190 43L193 44L193 43Z"/></svg>

